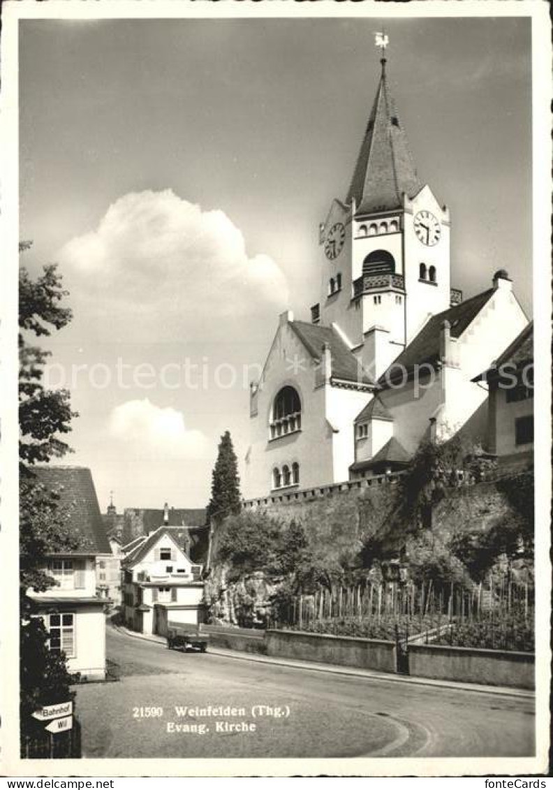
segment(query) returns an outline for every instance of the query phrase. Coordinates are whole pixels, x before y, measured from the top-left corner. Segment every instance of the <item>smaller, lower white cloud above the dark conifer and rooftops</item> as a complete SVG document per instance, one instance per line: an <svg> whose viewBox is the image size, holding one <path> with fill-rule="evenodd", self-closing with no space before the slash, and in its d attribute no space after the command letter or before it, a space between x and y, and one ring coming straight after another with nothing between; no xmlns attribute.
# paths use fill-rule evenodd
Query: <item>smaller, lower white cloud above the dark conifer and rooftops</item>
<svg viewBox="0 0 553 790"><path fill-rule="evenodd" d="M149 458L203 457L212 450L201 431L186 428L182 412L156 406L149 398L116 406L108 427L113 438L135 446Z"/></svg>

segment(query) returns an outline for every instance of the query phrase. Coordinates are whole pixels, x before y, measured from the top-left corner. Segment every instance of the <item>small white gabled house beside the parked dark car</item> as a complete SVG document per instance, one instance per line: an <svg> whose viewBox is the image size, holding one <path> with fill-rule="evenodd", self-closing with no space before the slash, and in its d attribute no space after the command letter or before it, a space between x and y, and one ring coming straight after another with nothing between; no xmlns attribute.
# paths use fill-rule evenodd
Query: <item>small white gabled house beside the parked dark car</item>
<svg viewBox="0 0 553 790"><path fill-rule="evenodd" d="M204 619L203 566L190 559L186 526L164 524L124 546L123 619L142 634L167 634L167 623L197 626Z"/></svg>

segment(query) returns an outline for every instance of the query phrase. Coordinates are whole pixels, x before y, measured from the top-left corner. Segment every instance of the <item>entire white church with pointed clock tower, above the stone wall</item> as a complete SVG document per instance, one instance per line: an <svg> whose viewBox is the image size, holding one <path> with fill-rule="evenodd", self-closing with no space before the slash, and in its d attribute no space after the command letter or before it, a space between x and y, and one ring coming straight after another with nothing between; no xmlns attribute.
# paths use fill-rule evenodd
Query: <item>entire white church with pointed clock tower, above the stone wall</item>
<svg viewBox="0 0 553 790"><path fill-rule="evenodd" d="M401 468L424 437L485 438L472 378L528 324L504 270L471 299L451 288L450 213L417 175L381 64L348 194L319 228L318 302L310 320L280 316L250 386L246 499Z"/></svg>

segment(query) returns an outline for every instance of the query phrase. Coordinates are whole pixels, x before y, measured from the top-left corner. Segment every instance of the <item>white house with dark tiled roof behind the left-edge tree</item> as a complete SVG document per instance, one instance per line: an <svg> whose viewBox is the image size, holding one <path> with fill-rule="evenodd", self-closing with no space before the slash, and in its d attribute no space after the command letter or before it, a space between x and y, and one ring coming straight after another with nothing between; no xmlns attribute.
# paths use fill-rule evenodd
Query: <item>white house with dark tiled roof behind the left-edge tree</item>
<svg viewBox="0 0 553 790"><path fill-rule="evenodd" d="M55 586L44 592L28 590L36 616L43 619L52 652L65 653L70 672L82 679L106 675L106 604L98 594L97 562L111 557L90 469L77 466L37 466L39 482L57 499L58 513L77 537L71 551L52 552L47 573Z"/></svg>

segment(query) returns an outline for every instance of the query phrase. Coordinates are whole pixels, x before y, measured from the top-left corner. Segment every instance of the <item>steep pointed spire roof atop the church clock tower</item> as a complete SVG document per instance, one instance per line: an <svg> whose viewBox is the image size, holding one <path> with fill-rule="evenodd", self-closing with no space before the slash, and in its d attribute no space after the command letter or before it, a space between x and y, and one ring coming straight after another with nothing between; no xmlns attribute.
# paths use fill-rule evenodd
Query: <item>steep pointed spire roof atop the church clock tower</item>
<svg viewBox="0 0 553 790"><path fill-rule="evenodd" d="M367 129L359 151L346 203L355 200L358 213L397 209L402 195L422 189L395 102L389 92L386 58Z"/></svg>

